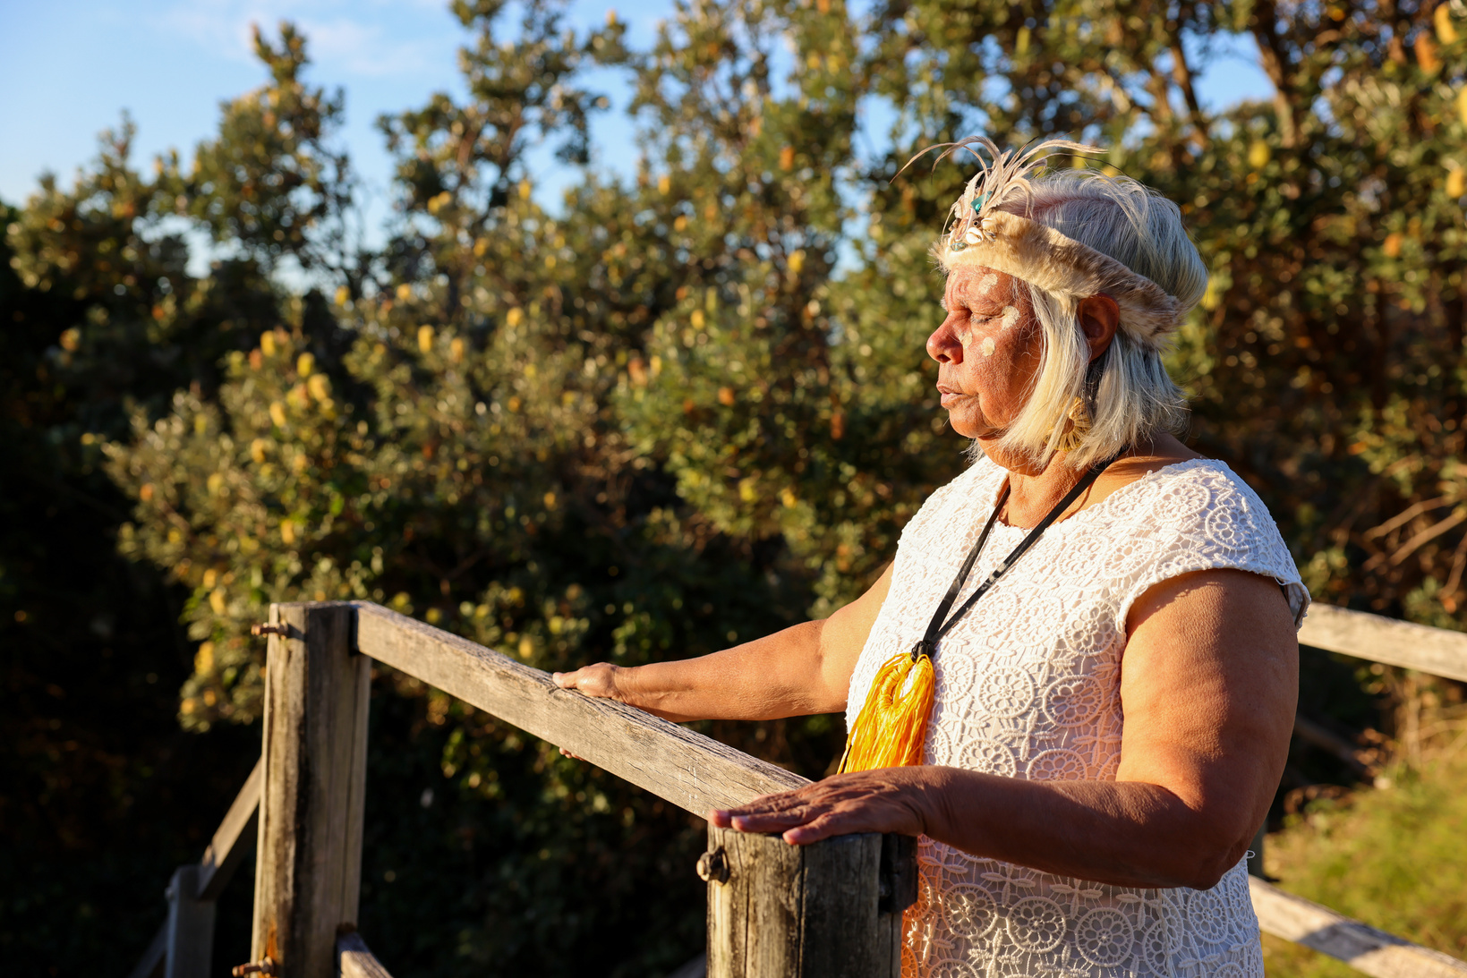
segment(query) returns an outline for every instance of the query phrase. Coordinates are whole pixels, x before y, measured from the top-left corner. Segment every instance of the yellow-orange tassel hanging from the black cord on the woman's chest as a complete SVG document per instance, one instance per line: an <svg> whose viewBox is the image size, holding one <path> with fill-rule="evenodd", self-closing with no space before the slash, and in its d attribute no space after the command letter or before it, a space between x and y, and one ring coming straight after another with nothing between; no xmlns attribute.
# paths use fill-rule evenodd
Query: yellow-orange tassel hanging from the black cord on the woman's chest
<svg viewBox="0 0 1467 978"><path fill-rule="evenodd" d="M934 685L930 657L899 652L886 660L846 736L841 773L921 764Z"/></svg>

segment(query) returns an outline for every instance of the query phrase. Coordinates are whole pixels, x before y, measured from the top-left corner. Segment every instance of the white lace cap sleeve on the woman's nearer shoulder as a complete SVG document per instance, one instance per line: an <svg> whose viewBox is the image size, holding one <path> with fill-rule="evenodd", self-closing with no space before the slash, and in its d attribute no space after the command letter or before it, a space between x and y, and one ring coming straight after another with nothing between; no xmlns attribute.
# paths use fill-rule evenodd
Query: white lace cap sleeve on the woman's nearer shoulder
<svg viewBox="0 0 1467 978"><path fill-rule="evenodd" d="M1131 565L1116 606L1115 626L1125 632L1131 606L1152 587L1196 570L1248 570L1273 578L1284 589L1294 628L1304 620L1309 591L1278 525L1257 493L1226 465L1207 460L1174 477L1146 477L1128 513Z"/></svg>

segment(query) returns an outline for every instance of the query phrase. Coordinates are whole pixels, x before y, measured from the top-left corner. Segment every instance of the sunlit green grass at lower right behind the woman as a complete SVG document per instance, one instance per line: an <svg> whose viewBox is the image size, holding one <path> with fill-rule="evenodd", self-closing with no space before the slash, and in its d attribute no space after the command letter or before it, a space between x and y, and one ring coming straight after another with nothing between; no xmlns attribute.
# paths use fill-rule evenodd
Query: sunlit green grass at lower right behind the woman
<svg viewBox="0 0 1467 978"><path fill-rule="evenodd" d="M1347 916L1467 957L1467 749L1391 786L1319 802L1267 837L1278 886ZM1269 978L1348 978L1353 968L1265 935Z"/></svg>

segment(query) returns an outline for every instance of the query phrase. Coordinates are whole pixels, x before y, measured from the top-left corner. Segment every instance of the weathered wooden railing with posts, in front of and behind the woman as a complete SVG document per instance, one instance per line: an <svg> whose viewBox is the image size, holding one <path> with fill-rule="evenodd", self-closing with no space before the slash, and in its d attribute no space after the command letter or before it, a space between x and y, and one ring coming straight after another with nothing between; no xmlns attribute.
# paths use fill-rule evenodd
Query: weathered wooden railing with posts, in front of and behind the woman
<svg viewBox="0 0 1467 978"><path fill-rule="evenodd" d="M169 916L132 978L205 978L214 900L255 837L251 962L236 974L389 978L356 934L370 660L386 663L654 795L703 815L808 783L726 745L370 603L271 606L264 746L198 864L167 890ZM1300 641L1467 680L1467 635L1316 606ZM915 899L912 840L845 836L811 846L709 827L713 978L895 978ZM1265 933L1378 978L1467 978L1467 963L1344 918L1251 877Z"/></svg>

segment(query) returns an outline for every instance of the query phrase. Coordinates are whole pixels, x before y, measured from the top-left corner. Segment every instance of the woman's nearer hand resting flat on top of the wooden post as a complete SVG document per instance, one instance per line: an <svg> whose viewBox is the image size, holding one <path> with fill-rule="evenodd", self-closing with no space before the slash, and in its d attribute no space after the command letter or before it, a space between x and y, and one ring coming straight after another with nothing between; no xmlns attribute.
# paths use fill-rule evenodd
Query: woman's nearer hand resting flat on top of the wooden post
<svg viewBox="0 0 1467 978"><path fill-rule="evenodd" d="M782 833L802 846L830 836L895 831L920 836L927 826L926 805L932 768L888 767L876 771L832 774L794 792L764 795L748 805L709 812L719 828Z"/></svg>

